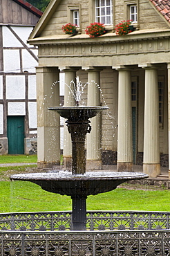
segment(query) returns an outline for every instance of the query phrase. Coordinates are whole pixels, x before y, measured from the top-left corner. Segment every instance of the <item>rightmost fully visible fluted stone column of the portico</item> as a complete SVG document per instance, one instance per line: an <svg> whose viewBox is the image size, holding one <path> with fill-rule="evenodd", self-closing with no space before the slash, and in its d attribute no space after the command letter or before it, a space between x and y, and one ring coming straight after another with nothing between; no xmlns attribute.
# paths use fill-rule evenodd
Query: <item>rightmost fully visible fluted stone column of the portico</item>
<svg viewBox="0 0 170 256"><path fill-rule="evenodd" d="M145 69L143 172L151 178L160 174L158 74L151 64Z"/></svg>

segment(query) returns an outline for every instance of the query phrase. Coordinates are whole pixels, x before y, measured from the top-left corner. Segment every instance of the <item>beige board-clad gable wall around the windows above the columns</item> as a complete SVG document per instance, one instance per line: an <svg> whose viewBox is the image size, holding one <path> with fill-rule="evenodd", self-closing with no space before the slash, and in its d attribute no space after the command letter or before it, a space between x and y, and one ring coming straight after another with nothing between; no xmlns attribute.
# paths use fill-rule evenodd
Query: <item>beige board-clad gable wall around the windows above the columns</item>
<svg viewBox="0 0 170 256"><path fill-rule="evenodd" d="M154 1L154 3L153 3ZM138 5L138 24L137 30L162 30L169 29L170 22L167 21L167 16L170 17L168 8L164 5L164 10L159 11L155 8L156 2L160 0L115 0L113 8L113 25L109 28L110 35L113 35L115 25L125 19L125 8L131 3ZM163 1L161 1L163 2ZM167 2L166 0L164 2ZM48 37L55 35L55 38L61 36L66 38L62 31L62 25L69 21L69 6L79 6L81 10L81 31L85 34L86 26L95 21L95 0L76 1L76 0L51 0L44 15L39 20L39 23L30 35L30 39L36 37ZM163 8L163 7L162 7ZM166 15L164 13L166 12ZM169 13L169 14L168 14ZM133 33L136 33L137 30ZM138 31L139 33L140 31ZM142 32L142 31L141 31Z"/></svg>

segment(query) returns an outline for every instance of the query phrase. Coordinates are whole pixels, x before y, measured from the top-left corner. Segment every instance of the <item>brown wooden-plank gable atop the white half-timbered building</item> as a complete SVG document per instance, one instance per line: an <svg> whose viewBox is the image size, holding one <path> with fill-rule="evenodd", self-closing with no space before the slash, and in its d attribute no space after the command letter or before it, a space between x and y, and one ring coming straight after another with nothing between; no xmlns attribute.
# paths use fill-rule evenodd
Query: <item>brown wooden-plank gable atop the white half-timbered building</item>
<svg viewBox="0 0 170 256"><path fill-rule="evenodd" d="M0 22L1 24L22 24L35 26L39 20L41 11L28 10L24 6L27 2L23 0L0 0ZM38 9L37 9L38 10Z"/></svg>

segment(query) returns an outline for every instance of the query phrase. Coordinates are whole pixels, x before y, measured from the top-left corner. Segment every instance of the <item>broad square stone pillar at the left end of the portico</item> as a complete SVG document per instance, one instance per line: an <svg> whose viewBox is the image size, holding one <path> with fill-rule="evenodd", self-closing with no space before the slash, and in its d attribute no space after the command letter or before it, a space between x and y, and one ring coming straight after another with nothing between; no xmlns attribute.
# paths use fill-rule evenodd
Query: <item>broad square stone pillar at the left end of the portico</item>
<svg viewBox="0 0 170 256"><path fill-rule="evenodd" d="M37 67L37 156L38 167L60 164L60 118L48 107L59 106L59 70Z"/></svg>

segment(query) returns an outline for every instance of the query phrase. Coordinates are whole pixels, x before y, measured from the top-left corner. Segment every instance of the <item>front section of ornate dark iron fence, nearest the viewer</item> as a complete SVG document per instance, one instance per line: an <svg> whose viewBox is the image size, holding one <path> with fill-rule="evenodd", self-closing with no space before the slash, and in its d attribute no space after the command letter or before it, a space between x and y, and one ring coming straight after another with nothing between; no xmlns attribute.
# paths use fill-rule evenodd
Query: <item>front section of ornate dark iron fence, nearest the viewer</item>
<svg viewBox="0 0 170 256"><path fill-rule="evenodd" d="M169 256L170 230L1 231L1 256Z"/></svg>

